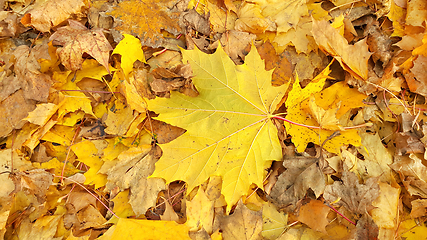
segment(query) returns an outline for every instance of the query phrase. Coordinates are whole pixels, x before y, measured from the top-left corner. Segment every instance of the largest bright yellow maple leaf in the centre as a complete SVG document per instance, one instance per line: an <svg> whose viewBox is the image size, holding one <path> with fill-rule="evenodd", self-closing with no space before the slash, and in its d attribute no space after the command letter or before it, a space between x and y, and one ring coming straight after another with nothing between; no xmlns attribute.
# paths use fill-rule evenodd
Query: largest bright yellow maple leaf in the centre
<svg viewBox="0 0 427 240"><path fill-rule="evenodd" d="M170 99L148 101L148 109L159 113L159 120L187 130L162 145L163 156L153 176L167 182L184 180L189 189L209 176L221 176L230 209L252 183L262 186L271 160L281 159L277 129L270 118L287 85L272 87L271 71L264 70L255 47L239 66L221 47L211 55L199 50L182 54L183 62L193 68L200 95L191 98L172 92Z"/></svg>

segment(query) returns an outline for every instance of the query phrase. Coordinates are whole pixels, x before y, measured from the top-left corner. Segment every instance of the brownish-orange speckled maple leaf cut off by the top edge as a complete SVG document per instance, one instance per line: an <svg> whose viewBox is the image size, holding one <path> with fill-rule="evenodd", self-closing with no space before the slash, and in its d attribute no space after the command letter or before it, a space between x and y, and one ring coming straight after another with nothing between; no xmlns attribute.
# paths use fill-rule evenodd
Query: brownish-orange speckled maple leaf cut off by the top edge
<svg viewBox="0 0 427 240"><path fill-rule="evenodd" d="M116 30L138 36L142 45L159 47L163 43L162 29L172 34L181 32L177 21L180 13L169 10L173 4L169 0L126 0L109 14L121 20Z"/></svg>

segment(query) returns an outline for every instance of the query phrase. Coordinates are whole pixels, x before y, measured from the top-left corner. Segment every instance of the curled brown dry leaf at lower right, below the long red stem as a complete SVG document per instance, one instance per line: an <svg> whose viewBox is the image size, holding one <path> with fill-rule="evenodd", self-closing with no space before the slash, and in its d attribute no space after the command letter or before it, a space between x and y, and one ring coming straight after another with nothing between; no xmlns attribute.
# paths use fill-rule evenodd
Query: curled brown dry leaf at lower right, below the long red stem
<svg viewBox="0 0 427 240"><path fill-rule="evenodd" d="M342 182L335 181L334 184L325 188L323 197L328 202L340 199L336 204L346 207L354 215L366 214L370 211L372 201L378 197L378 178L371 177L365 184L360 184L356 174L344 171Z"/></svg>

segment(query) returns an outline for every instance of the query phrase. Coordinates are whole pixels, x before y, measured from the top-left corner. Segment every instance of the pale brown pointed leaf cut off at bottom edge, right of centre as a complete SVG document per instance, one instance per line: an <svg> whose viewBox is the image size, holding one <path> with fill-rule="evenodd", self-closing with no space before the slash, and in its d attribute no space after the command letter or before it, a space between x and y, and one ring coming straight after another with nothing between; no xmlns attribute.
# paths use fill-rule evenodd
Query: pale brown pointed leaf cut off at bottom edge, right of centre
<svg viewBox="0 0 427 240"><path fill-rule="evenodd" d="M250 210L242 200L237 203L233 214L221 217L219 221L224 239L263 239L261 211Z"/></svg>

